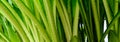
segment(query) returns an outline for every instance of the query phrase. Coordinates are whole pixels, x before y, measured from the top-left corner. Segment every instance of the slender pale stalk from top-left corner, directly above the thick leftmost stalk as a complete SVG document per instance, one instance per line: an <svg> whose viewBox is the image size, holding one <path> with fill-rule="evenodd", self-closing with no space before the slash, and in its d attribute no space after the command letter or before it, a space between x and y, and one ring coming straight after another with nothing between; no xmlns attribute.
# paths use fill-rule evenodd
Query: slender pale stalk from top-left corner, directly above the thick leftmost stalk
<svg viewBox="0 0 120 42"><path fill-rule="evenodd" d="M32 39L32 35L29 33L29 31L27 30L27 27L25 26L25 24L23 23L23 21L20 19L20 17L18 16L18 13L15 12L15 10L4 0L2 0L2 2L8 7L8 9L12 12L12 14L16 17L17 21L20 23L20 25L22 26L22 28L24 29L27 37L30 39L30 41L34 41Z"/></svg>

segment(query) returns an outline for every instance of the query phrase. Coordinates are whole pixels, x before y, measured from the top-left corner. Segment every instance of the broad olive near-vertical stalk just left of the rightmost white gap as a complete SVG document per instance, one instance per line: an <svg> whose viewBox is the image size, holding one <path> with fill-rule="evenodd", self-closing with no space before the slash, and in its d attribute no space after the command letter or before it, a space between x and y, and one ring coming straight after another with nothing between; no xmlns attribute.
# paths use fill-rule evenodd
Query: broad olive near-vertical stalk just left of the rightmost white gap
<svg viewBox="0 0 120 42"><path fill-rule="evenodd" d="M97 34L97 40L100 42L101 39L101 29L100 29L100 18L98 16L98 11L96 7L95 0L91 0L91 5L92 5L92 11L93 11L93 16L94 16L94 21L95 21L95 29L96 29L96 34Z"/></svg>

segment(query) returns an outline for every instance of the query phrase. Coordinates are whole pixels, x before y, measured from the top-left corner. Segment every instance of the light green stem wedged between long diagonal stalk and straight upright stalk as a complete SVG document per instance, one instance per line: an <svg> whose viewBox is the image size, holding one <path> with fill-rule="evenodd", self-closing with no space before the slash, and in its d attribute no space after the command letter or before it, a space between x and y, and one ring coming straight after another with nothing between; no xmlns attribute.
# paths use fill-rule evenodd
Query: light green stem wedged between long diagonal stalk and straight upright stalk
<svg viewBox="0 0 120 42"><path fill-rule="evenodd" d="M44 8L43 8L43 4L42 4L42 0L34 0L34 4L36 6L36 8L38 9L39 13L40 13L40 16L41 16L41 19L46 27L46 30L47 30L47 33L49 34L49 36L51 35L51 31L50 31L50 26L48 25L48 20L46 18L46 14L44 12Z"/></svg>

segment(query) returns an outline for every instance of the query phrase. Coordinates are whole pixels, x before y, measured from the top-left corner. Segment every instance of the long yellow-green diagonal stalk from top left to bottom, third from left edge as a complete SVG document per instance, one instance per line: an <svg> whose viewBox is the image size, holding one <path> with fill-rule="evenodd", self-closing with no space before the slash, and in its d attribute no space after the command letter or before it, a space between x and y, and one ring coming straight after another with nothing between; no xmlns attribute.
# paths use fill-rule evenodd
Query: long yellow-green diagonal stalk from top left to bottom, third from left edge
<svg viewBox="0 0 120 42"><path fill-rule="evenodd" d="M35 19L35 17L33 16L33 14L29 11L29 9L20 1L20 0L14 0L14 2L16 3L16 5L18 6L18 8L21 10L21 12L25 13L25 15L27 15L31 21L33 23L35 23L35 26L37 29L39 29L38 31L41 32L41 34L43 34L42 36L44 37L44 39L46 40L46 42L50 42L50 38L47 35L46 30L44 29L43 25L40 24L38 22L38 20Z"/></svg>

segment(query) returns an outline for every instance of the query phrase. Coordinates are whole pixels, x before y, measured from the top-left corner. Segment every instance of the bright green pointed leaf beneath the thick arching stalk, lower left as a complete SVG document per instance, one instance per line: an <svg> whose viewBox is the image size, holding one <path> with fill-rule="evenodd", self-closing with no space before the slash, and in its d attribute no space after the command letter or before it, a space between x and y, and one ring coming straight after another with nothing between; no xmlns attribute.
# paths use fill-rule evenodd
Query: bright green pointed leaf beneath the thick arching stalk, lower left
<svg viewBox="0 0 120 42"><path fill-rule="evenodd" d="M7 29L8 38L11 42L20 42L20 38L16 35L14 30L12 29L11 25L7 23L7 20L4 21L5 28ZM16 40L16 41L15 41Z"/></svg>

